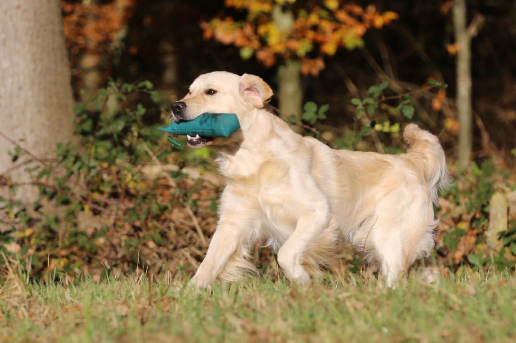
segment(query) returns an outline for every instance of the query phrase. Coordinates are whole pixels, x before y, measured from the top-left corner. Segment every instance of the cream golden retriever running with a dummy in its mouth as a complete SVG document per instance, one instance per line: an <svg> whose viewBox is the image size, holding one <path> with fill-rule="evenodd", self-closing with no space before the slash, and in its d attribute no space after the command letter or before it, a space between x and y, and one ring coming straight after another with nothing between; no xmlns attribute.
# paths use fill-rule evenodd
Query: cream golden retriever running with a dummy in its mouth
<svg viewBox="0 0 516 343"><path fill-rule="evenodd" d="M331 149L265 109L271 96L260 77L213 72L172 105L175 121L229 112L241 125L229 138L188 136L188 145L218 152L227 181L217 230L190 283L205 287L256 272L250 251L265 243L278 251L288 279L307 284L308 271L349 242L394 285L434 245L432 202L448 180L438 138L409 124L404 155Z"/></svg>

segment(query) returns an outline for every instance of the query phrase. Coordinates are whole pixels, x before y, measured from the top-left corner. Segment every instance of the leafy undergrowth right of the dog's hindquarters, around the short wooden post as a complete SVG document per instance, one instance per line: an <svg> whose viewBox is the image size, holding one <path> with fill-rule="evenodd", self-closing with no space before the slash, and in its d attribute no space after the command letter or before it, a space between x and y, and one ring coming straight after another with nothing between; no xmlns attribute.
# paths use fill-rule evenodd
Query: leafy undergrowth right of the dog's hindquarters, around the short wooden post
<svg viewBox="0 0 516 343"><path fill-rule="evenodd" d="M515 221L509 221L507 231L501 234L504 248L493 251L486 242L489 229L489 201L497 188L508 188L514 180L496 171L491 160L480 166L456 167L455 181L442 195L438 214L441 216L438 234L438 254L443 256L449 270L459 271L469 265L475 269L496 267L514 270L516 254L513 232ZM511 253L509 253L509 250Z"/></svg>

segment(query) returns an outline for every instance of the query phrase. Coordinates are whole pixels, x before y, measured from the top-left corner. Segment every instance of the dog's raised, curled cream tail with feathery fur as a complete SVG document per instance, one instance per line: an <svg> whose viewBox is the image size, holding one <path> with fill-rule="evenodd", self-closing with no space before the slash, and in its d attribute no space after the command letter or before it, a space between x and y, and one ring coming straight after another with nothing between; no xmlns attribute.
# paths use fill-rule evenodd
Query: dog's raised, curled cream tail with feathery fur
<svg viewBox="0 0 516 343"><path fill-rule="evenodd" d="M407 157L423 173L430 186L432 201L437 201L438 190L449 186L448 169L439 139L415 124L405 127L403 139L409 146Z"/></svg>

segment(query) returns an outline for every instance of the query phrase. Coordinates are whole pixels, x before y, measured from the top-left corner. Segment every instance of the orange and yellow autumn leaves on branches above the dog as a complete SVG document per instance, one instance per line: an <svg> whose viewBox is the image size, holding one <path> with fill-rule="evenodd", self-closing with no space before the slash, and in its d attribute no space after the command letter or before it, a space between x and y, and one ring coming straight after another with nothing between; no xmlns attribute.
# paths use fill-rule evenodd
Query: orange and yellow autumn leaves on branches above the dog
<svg viewBox="0 0 516 343"><path fill-rule="evenodd" d="M381 28L398 18L394 12L380 12L337 0L226 0L224 6L246 11L245 21L231 16L201 22L205 39L215 39L240 48L240 56L253 55L265 66L278 58L297 59L301 72L316 76L325 67L324 56L338 48L362 47L365 32Z"/></svg>

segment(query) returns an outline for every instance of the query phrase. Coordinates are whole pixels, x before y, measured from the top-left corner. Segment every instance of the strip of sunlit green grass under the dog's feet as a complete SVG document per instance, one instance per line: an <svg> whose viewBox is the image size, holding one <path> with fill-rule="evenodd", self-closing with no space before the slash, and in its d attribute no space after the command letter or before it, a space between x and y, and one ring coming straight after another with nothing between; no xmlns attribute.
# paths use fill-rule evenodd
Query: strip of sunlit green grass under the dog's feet
<svg viewBox="0 0 516 343"><path fill-rule="evenodd" d="M150 287L150 292L149 292ZM510 276L416 277L395 289L358 277L301 289L252 279L196 293L147 280L23 284L0 295L0 341L514 341Z"/></svg>

